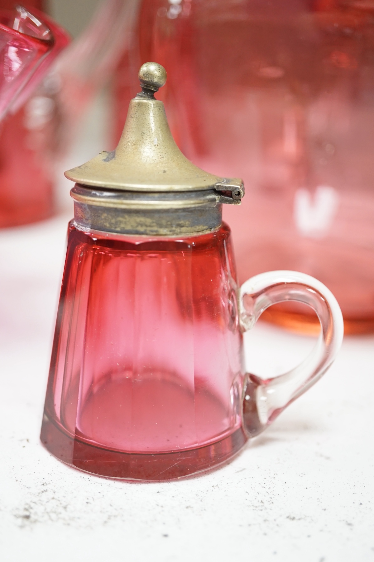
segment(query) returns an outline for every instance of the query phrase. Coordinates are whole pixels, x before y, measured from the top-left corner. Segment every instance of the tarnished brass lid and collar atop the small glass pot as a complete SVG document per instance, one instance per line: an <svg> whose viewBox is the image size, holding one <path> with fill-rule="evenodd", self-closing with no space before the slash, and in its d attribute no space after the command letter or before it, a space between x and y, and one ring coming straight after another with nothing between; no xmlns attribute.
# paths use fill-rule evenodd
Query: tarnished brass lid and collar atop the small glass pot
<svg viewBox="0 0 374 562"><path fill-rule="evenodd" d="M142 91L131 100L122 137L113 152L65 175L76 182L71 195L83 228L126 234L202 234L219 228L222 203L238 205L241 179L209 174L177 147L154 93L165 69L147 62L139 71Z"/></svg>

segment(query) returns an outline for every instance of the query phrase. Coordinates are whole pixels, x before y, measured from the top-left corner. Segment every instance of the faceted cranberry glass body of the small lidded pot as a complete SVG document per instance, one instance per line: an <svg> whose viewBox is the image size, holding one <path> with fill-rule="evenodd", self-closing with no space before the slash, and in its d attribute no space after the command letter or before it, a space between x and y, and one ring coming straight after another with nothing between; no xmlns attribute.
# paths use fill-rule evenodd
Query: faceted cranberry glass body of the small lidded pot
<svg viewBox="0 0 374 562"><path fill-rule="evenodd" d="M181 239L70 226L41 440L114 478L207 470L246 441L228 226Z"/></svg>

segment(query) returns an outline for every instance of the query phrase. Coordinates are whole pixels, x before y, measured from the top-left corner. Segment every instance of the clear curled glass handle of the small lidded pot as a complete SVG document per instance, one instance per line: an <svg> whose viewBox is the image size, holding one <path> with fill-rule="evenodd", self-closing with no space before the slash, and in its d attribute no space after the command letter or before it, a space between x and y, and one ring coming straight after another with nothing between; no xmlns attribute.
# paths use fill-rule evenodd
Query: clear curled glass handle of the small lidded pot
<svg viewBox="0 0 374 562"><path fill-rule="evenodd" d="M275 378L247 373L243 386L243 426L254 437L296 398L312 386L334 361L343 341L343 316L333 293L310 275L297 271L268 271L243 283L239 294L239 323L253 328L269 306L285 301L310 306L321 323L321 333L304 361Z"/></svg>

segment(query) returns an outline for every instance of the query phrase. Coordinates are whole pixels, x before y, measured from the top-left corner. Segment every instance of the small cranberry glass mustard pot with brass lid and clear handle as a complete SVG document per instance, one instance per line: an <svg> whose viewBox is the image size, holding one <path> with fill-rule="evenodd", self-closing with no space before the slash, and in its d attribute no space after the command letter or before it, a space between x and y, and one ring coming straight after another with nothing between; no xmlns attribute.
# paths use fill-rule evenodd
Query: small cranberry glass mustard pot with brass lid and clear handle
<svg viewBox="0 0 374 562"><path fill-rule="evenodd" d="M335 297L316 279L271 271L237 285L224 204L242 181L208 174L177 148L139 72L121 140L66 173L75 218L41 441L64 463L112 478L161 481L235 455L316 382L343 337ZM321 334L297 368L262 380L243 369L242 334L270 305L306 303Z"/></svg>

